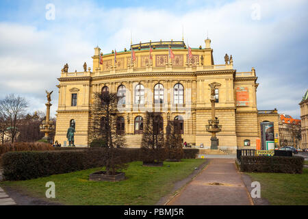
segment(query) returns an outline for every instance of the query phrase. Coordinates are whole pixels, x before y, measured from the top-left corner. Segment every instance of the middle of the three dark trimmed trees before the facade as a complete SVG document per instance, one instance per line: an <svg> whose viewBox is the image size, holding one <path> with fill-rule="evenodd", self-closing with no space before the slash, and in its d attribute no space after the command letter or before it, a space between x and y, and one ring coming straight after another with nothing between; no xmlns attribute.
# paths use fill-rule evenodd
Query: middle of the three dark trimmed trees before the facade
<svg viewBox="0 0 308 219"><path fill-rule="evenodd" d="M146 112L141 153L145 163L157 163L165 159L164 124L160 112Z"/></svg>

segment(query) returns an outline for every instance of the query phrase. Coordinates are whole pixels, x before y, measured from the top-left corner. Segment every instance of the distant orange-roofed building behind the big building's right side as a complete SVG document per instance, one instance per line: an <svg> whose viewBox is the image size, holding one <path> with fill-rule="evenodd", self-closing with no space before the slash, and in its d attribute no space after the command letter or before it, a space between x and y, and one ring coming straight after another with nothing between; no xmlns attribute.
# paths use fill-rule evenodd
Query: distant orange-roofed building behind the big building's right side
<svg viewBox="0 0 308 219"><path fill-rule="evenodd" d="M300 149L300 119L292 118L290 115L281 114L279 120L280 146L294 146Z"/></svg>

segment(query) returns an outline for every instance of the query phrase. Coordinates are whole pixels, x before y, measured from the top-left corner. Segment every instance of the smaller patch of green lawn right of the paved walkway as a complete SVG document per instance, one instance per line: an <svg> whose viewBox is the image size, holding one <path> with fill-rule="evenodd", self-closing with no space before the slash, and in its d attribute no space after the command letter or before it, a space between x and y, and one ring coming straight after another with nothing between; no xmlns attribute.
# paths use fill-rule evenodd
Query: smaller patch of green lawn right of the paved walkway
<svg viewBox="0 0 308 219"><path fill-rule="evenodd" d="M271 205L308 205L308 168L303 174L247 173L261 183L261 197Z"/></svg>

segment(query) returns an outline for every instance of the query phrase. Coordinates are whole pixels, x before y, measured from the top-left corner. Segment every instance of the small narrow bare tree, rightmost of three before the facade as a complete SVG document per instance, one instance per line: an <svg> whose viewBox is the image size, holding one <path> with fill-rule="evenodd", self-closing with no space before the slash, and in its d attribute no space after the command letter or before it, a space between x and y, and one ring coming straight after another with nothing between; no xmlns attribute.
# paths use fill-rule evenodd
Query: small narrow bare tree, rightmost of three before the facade
<svg viewBox="0 0 308 219"><path fill-rule="evenodd" d="M168 159L180 161L183 157L183 145L177 121L168 121L166 127L165 149Z"/></svg>

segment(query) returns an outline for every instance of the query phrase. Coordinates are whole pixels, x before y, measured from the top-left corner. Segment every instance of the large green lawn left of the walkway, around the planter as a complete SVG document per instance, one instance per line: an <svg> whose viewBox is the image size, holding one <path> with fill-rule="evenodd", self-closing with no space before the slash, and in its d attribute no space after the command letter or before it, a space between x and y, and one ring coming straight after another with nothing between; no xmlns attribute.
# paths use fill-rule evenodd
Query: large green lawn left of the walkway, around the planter
<svg viewBox="0 0 308 219"><path fill-rule="evenodd" d="M182 162L164 162L163 167L132 162L125 170L127 179L120 182L89 181L90 173L101 170L92 168L27 181L3 181L0 186L8 185L44 198L45 184L53 181L56 198L51 199L65 205L155 205L159 198L172 191L176 181L188 177L203 162L205 159L182 159Z"/></svg>

